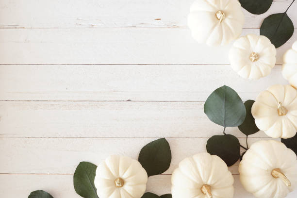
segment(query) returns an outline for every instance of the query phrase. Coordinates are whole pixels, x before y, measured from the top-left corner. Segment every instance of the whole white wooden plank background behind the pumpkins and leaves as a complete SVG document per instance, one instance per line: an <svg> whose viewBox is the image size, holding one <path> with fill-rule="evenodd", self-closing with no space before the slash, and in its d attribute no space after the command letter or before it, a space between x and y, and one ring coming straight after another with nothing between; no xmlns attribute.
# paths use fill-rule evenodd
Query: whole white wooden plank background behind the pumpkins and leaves
<svg viewBox="0 0 297 198"><path fill-rule="evenodd" d="M259 81L246 81L228 61L230 46L197 44L186 18L193 0L0 0L0 197L26 198L43 189L79 198L72 177L81 161L111 154L137 158L148 142L166 137L172 164L148 180L148 191L170 193L170 177L185 157L205 151L222 128L203 104L223 84L242 99L287 82L282 55ZM274 0L260 16L244 11L243 35L292 0ZM297 3L288 15L297 27ZM296 30L296 29L295 29ZM245 144L237 128L227 129ZM264 132L249 144L265 139ZM234 198L252 198L239 182ZM297 192L288 198L295 198Z"/></svg>

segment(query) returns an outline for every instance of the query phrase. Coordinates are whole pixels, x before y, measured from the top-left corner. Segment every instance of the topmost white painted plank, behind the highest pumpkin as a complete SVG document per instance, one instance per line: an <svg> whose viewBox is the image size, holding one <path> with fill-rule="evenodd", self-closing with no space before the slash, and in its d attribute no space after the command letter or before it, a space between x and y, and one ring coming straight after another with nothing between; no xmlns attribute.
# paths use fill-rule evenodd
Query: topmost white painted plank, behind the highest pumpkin
<svg viewBox="0 0 297 198"><path fill-rule="evenodd" d="M1 28L186 28L194 0L1 0ZM275 0L263 15L244 10L245 28L284 12L292 0ZM297 19L297 3L288 12ZM297 20L293 20L297 27Z"/></svg>

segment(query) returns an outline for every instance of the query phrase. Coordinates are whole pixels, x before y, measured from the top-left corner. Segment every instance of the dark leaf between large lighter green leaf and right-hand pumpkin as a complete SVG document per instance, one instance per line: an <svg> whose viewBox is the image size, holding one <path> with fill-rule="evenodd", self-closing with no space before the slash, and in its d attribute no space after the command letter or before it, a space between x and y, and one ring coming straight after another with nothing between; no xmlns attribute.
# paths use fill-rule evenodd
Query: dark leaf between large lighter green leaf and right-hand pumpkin
<svg viewBox="0 0 297 198"><path fill-rule="evenodd" d="M245 121L238 126L238 129L246 135L251 135L260 131L255 124L255 118L251 114L251 107L253 106L254 102L255 100L247 100L245 102L247 116Z"/></svg>

